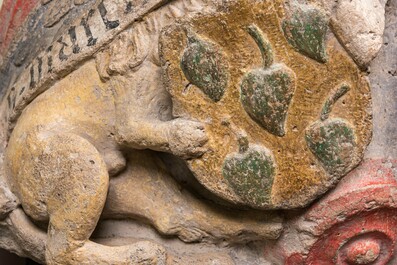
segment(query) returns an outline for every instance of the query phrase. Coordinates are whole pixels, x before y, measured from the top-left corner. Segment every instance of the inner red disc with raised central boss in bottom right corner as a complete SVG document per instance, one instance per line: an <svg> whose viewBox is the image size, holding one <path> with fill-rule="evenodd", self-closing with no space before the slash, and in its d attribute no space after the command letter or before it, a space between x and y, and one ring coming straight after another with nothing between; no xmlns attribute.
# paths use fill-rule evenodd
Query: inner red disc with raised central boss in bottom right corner
<svg viewBox="0 0 397 265"><path fill-rule="evenodd" d="M358 214L332 227L313 245L307 264L387 264L395 249L397 211Z"/></svg>

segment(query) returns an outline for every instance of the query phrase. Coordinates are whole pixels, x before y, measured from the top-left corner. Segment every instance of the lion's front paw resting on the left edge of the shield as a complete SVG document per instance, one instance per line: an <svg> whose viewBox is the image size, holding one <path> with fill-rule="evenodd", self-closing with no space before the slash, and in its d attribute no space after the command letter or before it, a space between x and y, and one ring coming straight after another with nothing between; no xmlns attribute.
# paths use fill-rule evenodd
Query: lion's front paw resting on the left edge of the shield
<svg viewBox="0 0 397 265"><path fill-rule="evenodd" d="M200 122L175 119L168 128L170 152L182 158L201 156L207 151L205 143L208 141L204 126Z"/></svg>

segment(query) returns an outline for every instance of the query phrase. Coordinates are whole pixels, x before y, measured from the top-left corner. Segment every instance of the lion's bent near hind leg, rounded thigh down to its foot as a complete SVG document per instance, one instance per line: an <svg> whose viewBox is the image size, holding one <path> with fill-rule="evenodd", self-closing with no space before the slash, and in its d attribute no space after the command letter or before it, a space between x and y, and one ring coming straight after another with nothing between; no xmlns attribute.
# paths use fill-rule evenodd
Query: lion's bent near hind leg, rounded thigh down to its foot
<svg viewBox="0 0 397 265"><path fill-rule="evenodd" d="M50 156L46 156L46 163L39 165L48 176L46 180L55 181L47 195L46 263L139 264L134 262L137 253L133 246L112 248L89 241L102 213L109 185L101 154L89 141L74 134L50 136L46 141L46 153ZM165 253L159 249L153 255L163 257Z"/></svg>

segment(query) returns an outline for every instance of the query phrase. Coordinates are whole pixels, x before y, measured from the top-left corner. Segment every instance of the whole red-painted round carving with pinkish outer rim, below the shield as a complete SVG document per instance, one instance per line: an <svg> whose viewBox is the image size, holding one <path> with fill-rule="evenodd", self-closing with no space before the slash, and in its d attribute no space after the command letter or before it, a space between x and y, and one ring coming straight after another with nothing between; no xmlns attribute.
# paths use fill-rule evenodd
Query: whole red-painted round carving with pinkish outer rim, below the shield
<svg viewBox="0 0 397 265"><path fill-rule="evenodd" d="M284 264L397 264L396 171L397 160L367 160L346 176L292 225L312 243L301 253L279 250Z"/></svg>

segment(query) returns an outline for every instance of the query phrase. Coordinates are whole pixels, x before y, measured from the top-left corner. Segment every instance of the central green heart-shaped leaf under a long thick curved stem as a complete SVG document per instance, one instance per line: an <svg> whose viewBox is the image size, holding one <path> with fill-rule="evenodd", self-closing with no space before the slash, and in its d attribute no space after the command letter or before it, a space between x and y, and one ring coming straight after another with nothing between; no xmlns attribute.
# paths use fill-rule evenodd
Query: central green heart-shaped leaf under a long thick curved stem
<svg viewBox="0 0 397 265"><path fill-rule="evenodd" d="M245 75L241 83L241 102L253 120L270 133L283 136L294 91L295 74L283 64L274 64Z"/></svg>

